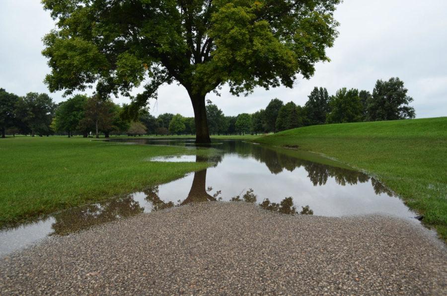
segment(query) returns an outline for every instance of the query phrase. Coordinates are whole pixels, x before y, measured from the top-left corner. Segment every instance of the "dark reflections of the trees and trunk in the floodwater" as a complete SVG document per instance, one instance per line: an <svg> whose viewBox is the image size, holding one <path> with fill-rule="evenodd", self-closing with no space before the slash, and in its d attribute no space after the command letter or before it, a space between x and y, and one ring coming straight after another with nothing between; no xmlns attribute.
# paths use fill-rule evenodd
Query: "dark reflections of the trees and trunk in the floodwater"
<svg viewBox="0 0 447 296"><path fill-rule="evenodd" d="M175 142L166 142L166 144L169 145L174 145L174 143ZM238 157L253 157L257 161L264 163L272 174L279 174L283 170L292 172L293 170L302 167L307 172L307 177L314 186L325 185L329 178L333 178L337 184L342 186L347 184L355 185L357 183L365 183L371 180L376 194L385 193L389 196L393 196L393 193L388 188L362 172L300 159L274 148L266 148L241 141L223 141L219 146L219 149L222 150L222 153L218 155L197 155L196 162L212 162L214 163L214 166L217 166L222 161L225 154L237 154ZM177 204L174 204L172 201L165 202L160 199L158 186L144 190L145 200L151 205L151 209L146 210L159 211L192 202L220 200L221 198L218 197L220 191L211 194L211 188L207 188L206 177L207 169L195 172L188 195L185 199L179 200ZM251 188L242 196L241 195L242 193L230 200L245 201L249 203L255 203L257 201L257 196ZM309 206L301 207L302 210L298 211L294 206L292 197L287 197L280 203L272 203L268 198L265 198L260 203L260 206L266 210L282 214L313 214L313 211ZM148 205L145 205L145 207L148 207ZM134 199L133 195L128 195L118 199L75 208L70 211L56 214L54 215L55 222L53 223L53 230L54 234L65 235L93 225L134 216L143 213L144 211L145 208Z"/></svg>

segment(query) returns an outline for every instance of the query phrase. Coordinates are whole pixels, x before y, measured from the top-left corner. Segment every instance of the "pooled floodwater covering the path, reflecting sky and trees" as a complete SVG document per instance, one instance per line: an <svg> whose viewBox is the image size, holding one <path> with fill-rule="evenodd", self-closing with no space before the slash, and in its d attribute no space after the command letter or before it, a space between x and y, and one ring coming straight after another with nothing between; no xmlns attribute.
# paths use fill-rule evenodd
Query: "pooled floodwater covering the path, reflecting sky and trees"
<svg viewBox="0 0 447 296"><path fill-rule="evenodd" d="M48 235L67 235L93 225L200 201L245 200L280 213L329 217L382 214L412 219L416 216L374 178L309 152L243 141L215 141L208 148L195 146L190 139L110 141L187 146L193 155L145 161L205 161L212 166L143 192L4 229L0 231L0 256Z"/></svg>

